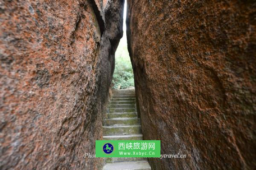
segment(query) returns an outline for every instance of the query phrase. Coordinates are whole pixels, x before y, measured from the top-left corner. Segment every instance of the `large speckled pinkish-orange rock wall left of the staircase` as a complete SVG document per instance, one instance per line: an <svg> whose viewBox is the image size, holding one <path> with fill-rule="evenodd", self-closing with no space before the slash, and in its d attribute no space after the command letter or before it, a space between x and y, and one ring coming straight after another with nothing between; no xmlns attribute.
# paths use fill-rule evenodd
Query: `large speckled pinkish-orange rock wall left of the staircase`
<svg viewBox="0 0 256 170"><path fill-rule="evenodd" d="M84 156L102 136L114 14L108 28L102 0L0 0L1 170L101 168Z"/></svg>

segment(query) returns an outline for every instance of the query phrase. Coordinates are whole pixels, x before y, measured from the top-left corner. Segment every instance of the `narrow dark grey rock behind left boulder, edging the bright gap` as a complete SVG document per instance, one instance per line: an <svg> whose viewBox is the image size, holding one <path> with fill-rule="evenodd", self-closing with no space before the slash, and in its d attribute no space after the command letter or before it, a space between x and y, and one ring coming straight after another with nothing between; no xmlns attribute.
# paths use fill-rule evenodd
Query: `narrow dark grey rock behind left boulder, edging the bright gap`
<svg viewBox="0 0 256 170"><path fill-rule="evenodd" d="M115 52L119 44L119 40L123 35L123 8L124 0L108 0L104 6L105 13L105 32L102 36L102 77L101 81L104 87L110 87L112 75L115 68ZM108 82L105 84L104 82ZM104 93L108 93L107 88L103 88ZM102 102L106 99L102 98ZM103 112L105 113L105 111ZM102 117L103 119L103 117Z"/></svg>

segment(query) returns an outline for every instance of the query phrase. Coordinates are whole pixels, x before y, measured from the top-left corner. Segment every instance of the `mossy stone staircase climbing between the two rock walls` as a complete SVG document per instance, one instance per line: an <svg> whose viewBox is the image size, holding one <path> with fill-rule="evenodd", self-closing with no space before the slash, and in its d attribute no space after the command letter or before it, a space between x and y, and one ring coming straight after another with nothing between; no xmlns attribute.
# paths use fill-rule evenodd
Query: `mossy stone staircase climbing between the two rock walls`
<svg viewBox="0 0 256 170"><path fill-rule="evenodd" d="M103 140L143 140L137 115L135 90L113 90ZM146 158L105 158L103 170L151 170Z"/></svg>

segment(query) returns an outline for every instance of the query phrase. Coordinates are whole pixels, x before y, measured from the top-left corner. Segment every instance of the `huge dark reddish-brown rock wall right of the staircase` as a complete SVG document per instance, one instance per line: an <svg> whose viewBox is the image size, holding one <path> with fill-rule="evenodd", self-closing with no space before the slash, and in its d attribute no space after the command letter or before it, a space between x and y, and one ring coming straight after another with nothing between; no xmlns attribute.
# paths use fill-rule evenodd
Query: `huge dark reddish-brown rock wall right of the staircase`
<svg viewBox="0 0 256 170"><path fill-rule="evenodd" d="M255 169L253 1L128 0L128 46L154 170Z"/></svg>

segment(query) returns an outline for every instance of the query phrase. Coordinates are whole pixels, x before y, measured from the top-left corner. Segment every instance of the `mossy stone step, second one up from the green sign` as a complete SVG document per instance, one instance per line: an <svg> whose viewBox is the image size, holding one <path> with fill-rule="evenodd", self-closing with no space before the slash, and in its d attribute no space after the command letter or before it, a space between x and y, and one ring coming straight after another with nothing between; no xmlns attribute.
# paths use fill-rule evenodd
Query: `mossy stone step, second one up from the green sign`
<svg viewBox="0 0 256 170"><path fill-rule="evenodd" d="M130 135L142 133L140 125L132 126L103 126L103 135Z"/></svg>

